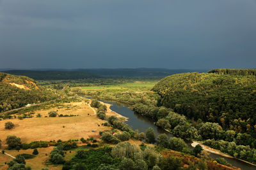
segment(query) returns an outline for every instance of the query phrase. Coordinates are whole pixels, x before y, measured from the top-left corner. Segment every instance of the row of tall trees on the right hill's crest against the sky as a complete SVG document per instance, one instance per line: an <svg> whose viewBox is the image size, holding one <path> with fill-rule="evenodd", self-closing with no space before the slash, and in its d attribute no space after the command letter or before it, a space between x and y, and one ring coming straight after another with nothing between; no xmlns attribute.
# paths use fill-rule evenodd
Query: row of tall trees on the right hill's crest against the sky
<svg viewBox="0 0 256 170"><path fill-rule="evenodd" d="M208 73L256 76L256 69L212 69Z"/></svg>

